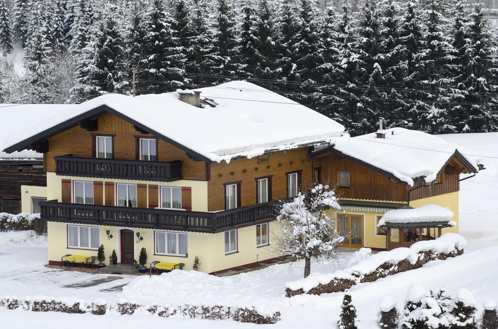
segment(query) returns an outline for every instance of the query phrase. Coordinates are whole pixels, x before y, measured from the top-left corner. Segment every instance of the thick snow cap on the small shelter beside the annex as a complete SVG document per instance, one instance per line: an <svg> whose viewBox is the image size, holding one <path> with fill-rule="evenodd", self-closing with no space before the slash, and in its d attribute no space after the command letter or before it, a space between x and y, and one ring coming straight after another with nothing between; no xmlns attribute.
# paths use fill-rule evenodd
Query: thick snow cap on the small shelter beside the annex
<svg viewBox="0 0 498 329"><path fill-rule="evenodd" d="M441 223L448 222L453 211L435 204L426 204L413 209L393 209L387 211L378 221L377 226L409 223Z"/></svg>

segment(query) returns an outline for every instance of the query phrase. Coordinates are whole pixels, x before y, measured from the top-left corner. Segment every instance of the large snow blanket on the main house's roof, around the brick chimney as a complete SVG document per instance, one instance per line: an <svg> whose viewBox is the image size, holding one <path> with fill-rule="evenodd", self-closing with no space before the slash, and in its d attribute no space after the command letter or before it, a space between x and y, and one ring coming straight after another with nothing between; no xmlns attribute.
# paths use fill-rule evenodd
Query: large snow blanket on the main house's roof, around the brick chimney
<svg viewBox="0 0 498 329"><path fill-rule="evenodd" d="M250 82L233 81L195 90L202 92L201 98L212 99L218 105L195 107L180 101L177 92L137 97L107 94L10 136L4 147L17 147L28 138L102 105L147 127L158 137L165 136L216 162L251 158L268 150L335 142L344 131L336 121Z"/></svg>

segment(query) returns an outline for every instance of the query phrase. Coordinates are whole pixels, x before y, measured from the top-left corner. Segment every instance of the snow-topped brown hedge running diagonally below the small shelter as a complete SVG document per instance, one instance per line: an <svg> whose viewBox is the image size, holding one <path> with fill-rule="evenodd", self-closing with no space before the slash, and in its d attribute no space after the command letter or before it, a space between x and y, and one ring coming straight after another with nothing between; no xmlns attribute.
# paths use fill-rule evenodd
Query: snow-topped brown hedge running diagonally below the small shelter
<svg viewBox="0 0 498 329"><path fill-rule="evenodd" d="M320 295L341 292L362 282L373 282L387 275L421 267L428 261L461 255L467 241L456 233L438 239L416 242L411 247L380 251L358 260L345 270L334 273L312 273L307 278L287 282L287 297L300 294Z"/></svg>

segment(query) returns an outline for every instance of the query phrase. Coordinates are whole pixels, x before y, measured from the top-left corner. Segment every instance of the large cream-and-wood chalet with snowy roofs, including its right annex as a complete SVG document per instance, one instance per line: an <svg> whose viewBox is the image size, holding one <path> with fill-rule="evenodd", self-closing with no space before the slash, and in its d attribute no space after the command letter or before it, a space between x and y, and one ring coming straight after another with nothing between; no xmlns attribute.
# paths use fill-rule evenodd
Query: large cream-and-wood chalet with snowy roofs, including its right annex
<svg viewBox="0 0 498 329"><path fill-rule="evenodd" d="M11 136L5 152L43 154L50 264L102 244L123 264L145 247L149 261L192 269L197 256L201 271L220 273L277 257L274 206L315 181L338 186L347 247L386 248L376 223L399 207L435 203L458 221L458 175L476 162L424 133L382 134L349 138L334 120L236 81L103 95Z"/></svg>

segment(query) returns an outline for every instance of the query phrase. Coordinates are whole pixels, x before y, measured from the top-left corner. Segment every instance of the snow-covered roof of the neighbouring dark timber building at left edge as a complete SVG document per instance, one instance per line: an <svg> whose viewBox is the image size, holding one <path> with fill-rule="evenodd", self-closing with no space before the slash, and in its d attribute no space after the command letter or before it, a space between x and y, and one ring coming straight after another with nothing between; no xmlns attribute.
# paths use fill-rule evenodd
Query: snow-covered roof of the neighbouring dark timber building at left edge
<svg viewBox="0 0 498 329"><path fill-rule="evenodd" d="M24 133L29 127L59 115L74 105L64 104L0 104L0 161L42 159L43 155L35 151L24 150L7 154L3 152L8 145L7 138L19 132Z"/></svg>

